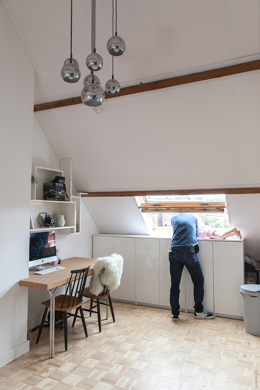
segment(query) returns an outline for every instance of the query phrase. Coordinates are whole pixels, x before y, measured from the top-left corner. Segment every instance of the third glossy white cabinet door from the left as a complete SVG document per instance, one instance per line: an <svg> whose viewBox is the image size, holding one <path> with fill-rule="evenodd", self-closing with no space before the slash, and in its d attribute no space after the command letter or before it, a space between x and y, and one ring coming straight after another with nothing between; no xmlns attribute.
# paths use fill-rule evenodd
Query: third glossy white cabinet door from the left
<svg viewBox="0 0 260 390"><path fill-rule="evenodd" d="M136 238L136 301L160 304L159 238Z"/></svg>

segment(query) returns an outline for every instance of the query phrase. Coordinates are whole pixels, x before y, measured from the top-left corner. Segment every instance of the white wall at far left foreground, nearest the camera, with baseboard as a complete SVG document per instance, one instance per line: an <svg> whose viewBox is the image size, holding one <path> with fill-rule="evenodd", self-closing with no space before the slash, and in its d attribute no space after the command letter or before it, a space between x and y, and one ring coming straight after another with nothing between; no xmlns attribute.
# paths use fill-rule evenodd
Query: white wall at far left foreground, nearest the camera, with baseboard
<svg viewBox="0 0 260 390"><path fill-rule="evenodd" d="M0 1L0 367L29 349L26 287L34 68Z"/></svg>

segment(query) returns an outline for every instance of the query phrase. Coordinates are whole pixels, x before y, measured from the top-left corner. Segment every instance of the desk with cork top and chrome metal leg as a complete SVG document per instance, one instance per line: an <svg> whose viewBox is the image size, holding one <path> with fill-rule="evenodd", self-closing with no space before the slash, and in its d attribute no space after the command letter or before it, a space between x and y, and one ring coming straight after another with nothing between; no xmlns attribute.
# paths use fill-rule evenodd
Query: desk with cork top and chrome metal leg
<svg viewBox="0 0 260 390"><path fill-rule="evenodd" d="M29 277L20 280L20 286L48 290L50 293L50 358L54 357L54 308L56 292L60 286L69 283L73 269L82 269L90 265L88 275L92 275L95 261L96 259L89 259L88 257L70 257L69 259L62 260L61 266L65 267L64 269L45 275L39 275L35 271L29 271ZM45 265L45 268L51 267ZM51 289L53 288L55 290L52 292Z"/></svg>

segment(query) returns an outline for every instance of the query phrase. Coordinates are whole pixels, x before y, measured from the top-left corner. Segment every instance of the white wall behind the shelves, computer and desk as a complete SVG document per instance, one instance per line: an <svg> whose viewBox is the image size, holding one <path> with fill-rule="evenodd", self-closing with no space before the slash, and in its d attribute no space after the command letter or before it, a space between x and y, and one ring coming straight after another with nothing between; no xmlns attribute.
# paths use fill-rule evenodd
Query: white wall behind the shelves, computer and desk
<svg viewBox="0 0 260 390"><path fill-rule="evenodd" d="M46 168L59 169L59 160L53 151L49 141L44 135L39 123L34 119L33 145L32 145L32 172L35 165ZM96 224L81 200L81 233L80 234L55 234L56 247L59 257L90 257L92 258L92 234L99 233ZM27 263L28 267L28 263ZM28 330L38 326L44 312L41 302L50 298L48 291L28 289ZM62 288L59 290L62 293Z"/></svg>

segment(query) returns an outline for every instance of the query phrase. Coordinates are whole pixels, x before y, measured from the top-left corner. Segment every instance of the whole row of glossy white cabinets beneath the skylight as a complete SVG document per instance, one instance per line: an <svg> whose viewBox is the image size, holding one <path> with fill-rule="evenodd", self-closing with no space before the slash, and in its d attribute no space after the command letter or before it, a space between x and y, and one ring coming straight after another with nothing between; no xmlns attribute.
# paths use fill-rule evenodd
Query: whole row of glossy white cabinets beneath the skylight
<svg viewBox="0 0 260 390"><path fill-rule="evenodd" d="M198 244L198 259L204 276L205 311L242 318L239 291L244 284L244 240L198 240ZM170 308L170 245L169 238L99 234L93 236L93 257L114 252L123 256L121 284L114 291L114 298ZM185 267L179 302L181 310L193 312L193 283Z"/></svg>

